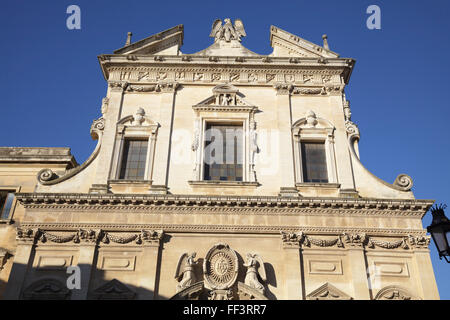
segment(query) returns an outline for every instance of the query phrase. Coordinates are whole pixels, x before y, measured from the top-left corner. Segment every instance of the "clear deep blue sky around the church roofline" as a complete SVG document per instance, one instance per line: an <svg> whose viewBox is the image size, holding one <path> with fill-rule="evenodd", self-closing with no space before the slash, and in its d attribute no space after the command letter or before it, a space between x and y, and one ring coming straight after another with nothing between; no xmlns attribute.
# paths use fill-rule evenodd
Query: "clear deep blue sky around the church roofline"
<svg viewBox="0 0 450 320"><path fill-rule="evenodd" d="M81 8L81 30L66 28L71 4ZM372 4L381 30L366 27ZM326 33L331 50L355 58L346 94L362 162L388 182L407 173L416 198L450 205L449 9L445 0L4 1L0 145L70 147L83 162L106 94L97 55L122 47L128 31L135 41L178 24L182 51L194 53L211 44L214 19L240 18L254 52L271 53L273 24L317 44ZM450 299L449 265L430 248L441 298Z"/></svg>

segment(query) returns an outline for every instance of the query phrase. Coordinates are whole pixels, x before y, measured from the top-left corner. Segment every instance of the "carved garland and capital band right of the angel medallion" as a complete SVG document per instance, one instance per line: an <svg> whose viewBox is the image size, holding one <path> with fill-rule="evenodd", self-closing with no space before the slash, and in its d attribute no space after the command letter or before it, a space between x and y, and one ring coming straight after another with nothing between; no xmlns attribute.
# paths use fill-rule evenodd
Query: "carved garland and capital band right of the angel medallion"
<svg viewBox="0 0 450 320"><path fill-rule="evenodd" d="M338 248L382 248L382 249L427 249L430 244L429 236L404 236L399 240L387 241L365 233L343 233L334 237L314 237L304 232L289 233L281 231L284 248L294 247L338 247Z"/></svg>

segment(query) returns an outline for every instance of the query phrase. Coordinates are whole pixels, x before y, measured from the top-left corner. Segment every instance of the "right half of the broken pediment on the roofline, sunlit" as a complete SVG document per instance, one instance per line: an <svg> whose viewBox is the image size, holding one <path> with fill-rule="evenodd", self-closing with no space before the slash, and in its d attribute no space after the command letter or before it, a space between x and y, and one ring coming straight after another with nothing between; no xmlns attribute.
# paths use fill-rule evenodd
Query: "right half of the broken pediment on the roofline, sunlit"
<svg viewBox="0 0 450 320"><path fill-rule="evenodd" d="M339 58L339 54L275 26L270 27L270 45L274 57Z"/></svg>

